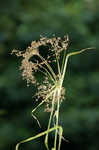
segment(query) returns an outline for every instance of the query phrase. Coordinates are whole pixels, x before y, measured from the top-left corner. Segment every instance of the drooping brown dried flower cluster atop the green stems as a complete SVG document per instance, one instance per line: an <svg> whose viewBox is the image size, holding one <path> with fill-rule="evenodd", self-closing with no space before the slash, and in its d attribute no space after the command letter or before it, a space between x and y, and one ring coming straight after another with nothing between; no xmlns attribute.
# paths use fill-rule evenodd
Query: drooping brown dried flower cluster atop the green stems
<svg viewBox="0 0 99 150"><path fill-rule="evenodd" d="M37 96L37 100L42 98L42 100L47 103L45 108L46 111L51 110L51 106L49 105L51 105L53 93L55 92L61 77L59 72L55 74L50 66L50 63L57 63L56 61L59 61L60 53L67 49L68 41L68 36L64 37L64 40L62 40L60 37L41 37L39 41L32 41L31 46L29 46L25 52L15 49L12 51L12 54L15 53L16 56L23 57L20 66L20 70L22 70L22 77L27 81L27 86L29 86L31 82L38 87L38 92L35 96ZM41 46L47 46L48 50L50 51L46 59L40 54ZM52 59L52 57L54 59ZM32 61L31 58L33 58ZM39 83L35 78L35 73L38 73L38 71L44 74L44 80L42 84ZM56 93L55 102L57 102L57 96L58 94ZM62 99L64 99L63 87L61 88L60 102Z"/></svg>

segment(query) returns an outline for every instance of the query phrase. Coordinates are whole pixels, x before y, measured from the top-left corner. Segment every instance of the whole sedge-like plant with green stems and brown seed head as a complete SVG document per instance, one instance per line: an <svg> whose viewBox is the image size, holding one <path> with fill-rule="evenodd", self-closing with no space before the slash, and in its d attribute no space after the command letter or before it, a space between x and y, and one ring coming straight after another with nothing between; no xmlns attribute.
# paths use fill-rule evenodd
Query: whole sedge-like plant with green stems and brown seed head
<svg viewBox="0 0 99 150"><path fill-rule="evenodd" d="M12 54L14 53L16 56L21 56L23 58L20 70L22 70L23 79L27 81L27 86L32 83L37 88L37 92L34 96L39 104L32 110L32 116L37 120L39 126L39 120L34 115L34 112L42 104L45 104L45 111L50 112L47 130L19 142L16 145L16 150L19 149L20 144L32 141L44 135L45 146L47 150L49 150L48 138L49 133L52 131L54 131L55 135L51 150L60 150L61 140L63 139L63 128L59 125L59 110L65 94L63 81L68 59L70 56L92 49L85 48L68 53L68 44L68 36L64 36L64 39L61 39L60 37L56 38L55 36L52 38L40 37L39 41L32 41L31 46L29 46L26 51L19 51L15 49L12 51ZM44 49L43 53L40 52L41 49ZM45 51L46 49L47 51ZM49 54L43 56L45 53ZM39 72L43 75L42 82L39 82L36 78L36 74ZM53 126L51 126L52 122L54 122Z"/></svg>

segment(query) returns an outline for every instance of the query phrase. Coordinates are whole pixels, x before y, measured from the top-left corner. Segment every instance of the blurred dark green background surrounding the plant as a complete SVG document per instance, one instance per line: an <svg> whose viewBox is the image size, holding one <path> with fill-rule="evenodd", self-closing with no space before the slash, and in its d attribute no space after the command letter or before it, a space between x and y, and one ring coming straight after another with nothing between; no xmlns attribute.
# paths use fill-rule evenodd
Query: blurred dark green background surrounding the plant
<svg viewBox="0 0 99 150"><path fill-rule="evenodd" d="M37 111L42 128L31 117L36 103L33 87L26 87L18 70L20 59L12 49L24 50L40 35L68 34L68 51L96 49L70 58L61 105L61 149L99 150L99 1L3 0L0 2L0 150L47 128L49 114ZM20 150L44 150L44 138L23 144ZM53 135L50 136L50 143Z"/></svg>

